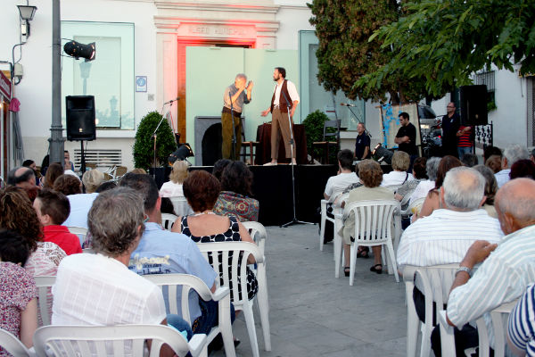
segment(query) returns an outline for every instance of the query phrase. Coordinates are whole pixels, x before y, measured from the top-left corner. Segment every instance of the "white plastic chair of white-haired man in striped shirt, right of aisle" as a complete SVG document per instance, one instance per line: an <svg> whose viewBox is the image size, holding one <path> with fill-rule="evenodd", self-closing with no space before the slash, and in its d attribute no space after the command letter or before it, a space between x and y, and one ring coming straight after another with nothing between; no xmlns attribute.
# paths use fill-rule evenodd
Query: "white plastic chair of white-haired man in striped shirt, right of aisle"
<svg viewBox="0 0 535 357"><path fill-rule="evenodd" d="M407 357L416 356L418 331L422 332L420 356L427 357L431 353L432 303L436 303L436 311L443 309L448 302L449 289L455 279L459 264L434 265L430 267L405 266L403 281L405 282L405 298L407 301ZM413 290L415 280L418 279L418 288L425 296L425 322L422 323L416 314ZM435 321L438 321L438 315Z"/></svg>

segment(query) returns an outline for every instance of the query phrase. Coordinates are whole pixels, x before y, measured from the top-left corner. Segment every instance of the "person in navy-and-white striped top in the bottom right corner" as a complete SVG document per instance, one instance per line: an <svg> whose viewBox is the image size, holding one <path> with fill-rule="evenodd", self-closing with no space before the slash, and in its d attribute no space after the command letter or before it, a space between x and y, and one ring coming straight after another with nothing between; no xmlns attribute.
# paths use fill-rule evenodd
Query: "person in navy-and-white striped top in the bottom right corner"
<svg viewBox="0 0 535 357"><path fill-rule="evenodd" d="M516 356L535 355L535 285L531 285L509 315L507 343Z"/></svg>

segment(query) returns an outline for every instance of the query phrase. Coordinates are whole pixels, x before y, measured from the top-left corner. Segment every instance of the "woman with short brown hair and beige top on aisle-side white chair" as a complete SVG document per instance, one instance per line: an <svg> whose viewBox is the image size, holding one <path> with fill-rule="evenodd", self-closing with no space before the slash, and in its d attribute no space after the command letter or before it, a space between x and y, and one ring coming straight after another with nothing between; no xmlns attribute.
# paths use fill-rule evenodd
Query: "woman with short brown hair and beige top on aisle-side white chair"
<svg viewBox="0 0 535 357"><path fill-rule="evenodd" d="M364 186L357 187L350 191L348 199L345 201L347 207L350 203L368 200L393 200L394 193L387 187L380 187L383 182L383 170L381 165L372 160L364 160L358 163L358 177ZM343 237L343 252L344 252L344 274L346 277L350 276L350 248L353 244L353 235L355 234L355 216L353 212L344 222L341 232L338 234ZM381 261L381 245L372 246L374 252L374 266L370 271L377 274L383 272L383 262ZM359 251L360 252L360 251ZM360 254L359 254L360 255Z"/></svg>

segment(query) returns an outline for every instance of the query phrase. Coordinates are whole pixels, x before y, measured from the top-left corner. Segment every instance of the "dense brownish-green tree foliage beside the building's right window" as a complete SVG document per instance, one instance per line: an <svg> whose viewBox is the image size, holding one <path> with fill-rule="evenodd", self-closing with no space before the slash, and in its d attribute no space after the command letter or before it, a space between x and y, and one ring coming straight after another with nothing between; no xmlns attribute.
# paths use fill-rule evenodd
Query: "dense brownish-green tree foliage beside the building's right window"
<svg viewBox="0 0 535 357"><path fill-rule="evenodd" d="M384 100L393 103L416 101L425 95L424 83L407 80L399 73L380 75L377 86L355 86L355 82L391 61L393 52L380 41L368 41L374 31L399 20L396 0L314 0L308 4L310 23L316 27L317 79L325 90L342 90L350 99Z"/></svg>

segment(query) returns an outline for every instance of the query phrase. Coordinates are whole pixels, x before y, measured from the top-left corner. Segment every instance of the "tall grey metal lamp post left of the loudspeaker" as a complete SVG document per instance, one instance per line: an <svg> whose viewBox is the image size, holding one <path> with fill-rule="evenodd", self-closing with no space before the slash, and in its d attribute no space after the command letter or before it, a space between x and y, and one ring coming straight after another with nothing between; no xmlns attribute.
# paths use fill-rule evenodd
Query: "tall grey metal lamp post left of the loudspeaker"
<svg viewBox="0 0 535 357"><path fill-rule="evenodd" d="M62 22L60 0L52 0L52 126L50 127L50 162L63 162L62 127Z"/></svg>

